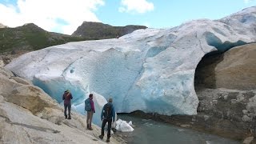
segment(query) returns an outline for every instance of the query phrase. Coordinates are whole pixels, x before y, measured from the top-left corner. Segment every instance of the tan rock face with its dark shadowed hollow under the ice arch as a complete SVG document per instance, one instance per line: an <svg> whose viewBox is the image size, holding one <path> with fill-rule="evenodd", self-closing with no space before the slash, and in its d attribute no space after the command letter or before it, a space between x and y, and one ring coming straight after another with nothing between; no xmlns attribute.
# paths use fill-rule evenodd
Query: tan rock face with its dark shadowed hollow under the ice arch
<svg viewBox="0 0 256 144"><path fill-rule="evenodd" d="M238 46L225 54L202 58L195 85L207 88L256 90L256 43Z"/></svg>

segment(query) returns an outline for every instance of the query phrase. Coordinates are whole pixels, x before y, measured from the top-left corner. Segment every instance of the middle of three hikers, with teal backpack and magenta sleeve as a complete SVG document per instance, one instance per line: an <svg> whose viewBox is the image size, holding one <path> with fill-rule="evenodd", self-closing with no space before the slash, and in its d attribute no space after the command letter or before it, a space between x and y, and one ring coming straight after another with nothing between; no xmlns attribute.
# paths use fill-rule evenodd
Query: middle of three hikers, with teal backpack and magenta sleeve
<svg viewBox="0 0 256 144"><path fill-rule="evenodd" d="M93 130L91 127L91 121L95 113L93 98L94 98L94 94L89 94L89 98L87 98L85 101L85 110L87 112L86 123L87 123L88 130Z"/></svg>

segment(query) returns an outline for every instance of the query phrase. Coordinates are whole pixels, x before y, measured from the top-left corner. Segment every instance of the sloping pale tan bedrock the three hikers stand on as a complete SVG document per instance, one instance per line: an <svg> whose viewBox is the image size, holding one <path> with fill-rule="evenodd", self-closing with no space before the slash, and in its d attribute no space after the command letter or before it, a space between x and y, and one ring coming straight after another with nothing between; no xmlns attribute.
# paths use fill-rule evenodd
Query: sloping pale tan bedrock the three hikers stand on
<svg viewBox="0 0 256 144"><path fill-rule="evenodd" d="M74 111L66 120L48 94L0 67L0 143L105 143L99 134L98 126L86 130L86 117Z"/></svg>

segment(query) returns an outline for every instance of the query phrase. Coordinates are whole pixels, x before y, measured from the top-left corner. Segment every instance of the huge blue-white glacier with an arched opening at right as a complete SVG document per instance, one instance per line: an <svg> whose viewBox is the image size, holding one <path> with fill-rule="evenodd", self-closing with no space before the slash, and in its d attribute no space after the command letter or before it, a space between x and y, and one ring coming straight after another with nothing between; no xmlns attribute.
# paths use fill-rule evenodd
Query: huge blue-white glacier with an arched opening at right
<svg viewBox="0 0 256 144"><path fill-rule="evenodd" d="M199 19L170 29L136 30L121 38L69 42L23 54L6 66L59 103L69 89L84 113L94 91L114 98L118 113L197 114L194 72L212 51L256 41L256 7L219 20ZM94 117L100 117L95 116Z"/></svg>

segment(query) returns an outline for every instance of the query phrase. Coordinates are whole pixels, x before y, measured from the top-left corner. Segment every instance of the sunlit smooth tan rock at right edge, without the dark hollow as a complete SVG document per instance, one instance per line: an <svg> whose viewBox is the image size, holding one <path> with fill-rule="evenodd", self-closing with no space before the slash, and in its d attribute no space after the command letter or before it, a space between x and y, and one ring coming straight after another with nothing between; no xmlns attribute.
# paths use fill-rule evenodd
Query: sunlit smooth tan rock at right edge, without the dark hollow
<svg viewBox="0 0 256 144"><path fill-rule="evenodd" d="M216 87L256 90L256 43L227 51L215 67Z"/></svg>

